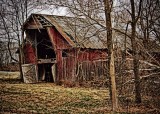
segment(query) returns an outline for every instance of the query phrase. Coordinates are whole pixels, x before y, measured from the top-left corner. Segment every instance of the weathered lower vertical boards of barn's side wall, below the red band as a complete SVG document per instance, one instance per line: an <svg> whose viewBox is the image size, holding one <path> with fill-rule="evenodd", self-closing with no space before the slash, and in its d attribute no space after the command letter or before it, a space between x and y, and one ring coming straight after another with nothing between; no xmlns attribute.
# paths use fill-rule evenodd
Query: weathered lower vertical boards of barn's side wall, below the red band
<svg viewBox="0 0 160 114"><path fill-rule="evenodd" d="M106 82L106 60L76 62L74 57L63 58L62 79L64 82Z"/></svg>

